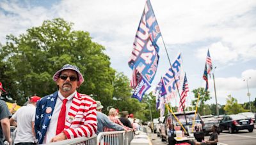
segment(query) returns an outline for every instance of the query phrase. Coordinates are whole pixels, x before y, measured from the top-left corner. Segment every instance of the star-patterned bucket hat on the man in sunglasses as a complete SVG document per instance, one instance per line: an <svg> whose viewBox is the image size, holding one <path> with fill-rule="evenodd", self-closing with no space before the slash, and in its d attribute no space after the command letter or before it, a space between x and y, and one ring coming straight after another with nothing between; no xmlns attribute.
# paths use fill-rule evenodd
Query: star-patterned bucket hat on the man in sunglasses
<svg viewBox="0 0 256 145"><path fill-rule="evenodd" d="M82 75L81 72L79 71L78 67L77 67L77 66L74 66L74 65L71 65L71 64L65 64L59 71L57 71L57 72L52 76L53 81L57 81L57 79L58 79L59 76L60 76L60 72L61 72L61 71L64 71L64 70L67 70L67 69L71 69L71 70L76 71L77 74L78 74L78 81L81 82L81 83L84 82L83 75Z"/></svg>

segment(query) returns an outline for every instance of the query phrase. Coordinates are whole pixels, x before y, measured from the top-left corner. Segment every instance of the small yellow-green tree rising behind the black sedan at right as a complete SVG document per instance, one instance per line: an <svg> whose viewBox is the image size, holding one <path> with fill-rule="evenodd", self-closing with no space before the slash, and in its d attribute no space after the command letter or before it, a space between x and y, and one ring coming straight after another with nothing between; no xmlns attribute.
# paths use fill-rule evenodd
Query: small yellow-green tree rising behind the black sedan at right
<svg viewBox="0 0 256 145"><path fill-rule="evenodd" d="M241 104L238 104L237 99L231 95L227 96L227 104L225 105L224 110L227 114L237 114L248 111L244 109Z"/></svg>

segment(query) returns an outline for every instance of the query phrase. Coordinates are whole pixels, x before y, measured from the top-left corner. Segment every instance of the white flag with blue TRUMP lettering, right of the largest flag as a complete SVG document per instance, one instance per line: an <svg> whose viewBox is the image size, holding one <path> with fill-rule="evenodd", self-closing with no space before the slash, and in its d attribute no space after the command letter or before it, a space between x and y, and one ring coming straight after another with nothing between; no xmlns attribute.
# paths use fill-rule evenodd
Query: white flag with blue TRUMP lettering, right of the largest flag
<svg viewBox="0 0 256 145"><path fill-rule="evenodd" d="M172 67L168 69L163 76L163 84L166 88L166 101L176 97L177 91L180 87L180 80L182 80L182 59L179 53L175 61L172 63Z"/></svg>

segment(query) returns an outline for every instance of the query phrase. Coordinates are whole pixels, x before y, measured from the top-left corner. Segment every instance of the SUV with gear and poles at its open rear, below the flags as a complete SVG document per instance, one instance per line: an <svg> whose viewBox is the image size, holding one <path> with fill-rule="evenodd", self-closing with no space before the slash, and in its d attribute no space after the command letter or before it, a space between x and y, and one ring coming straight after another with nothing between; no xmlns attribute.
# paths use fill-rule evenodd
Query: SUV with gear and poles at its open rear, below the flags
<svg viewBox="0 0 256 145"><path fill-rule="evenodd" d="M175 116L179 119L180 123L184 126L184 128L188 132L188 127L191 128L193 124L193 120L195 117L195 111L186 112L186 119L184 113L174 113ZM186 123L187 120L187 123ZM161 139L162 141L168 142L168 144L175 144L173 137L176 136L176 130L182 128L179 125L179 122L175 119L173 114L168 114L164 118L164 122L161 125ZM178 129L178 130L179 130ZM195 117L195 126L194 126L194 136L197 141L202 141L204 139L204 124L200 117L200 114L196 113Z"/></svg>

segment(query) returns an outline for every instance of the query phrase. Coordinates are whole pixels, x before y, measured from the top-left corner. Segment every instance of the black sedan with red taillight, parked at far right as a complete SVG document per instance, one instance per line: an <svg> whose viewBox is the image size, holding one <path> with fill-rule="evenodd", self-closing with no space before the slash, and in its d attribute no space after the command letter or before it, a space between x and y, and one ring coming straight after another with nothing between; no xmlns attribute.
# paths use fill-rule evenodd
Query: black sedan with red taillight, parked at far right
<svg viewBox="0 0 256 145"><path fill-rule="evenodd" d="M246 116L242 114L227 115L220 122L220 130L228 130L230 134L243 129L248 129L249 132L253 132L253 120L246 118Z"/></svg>

